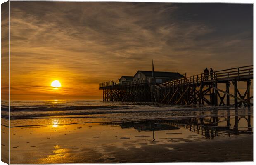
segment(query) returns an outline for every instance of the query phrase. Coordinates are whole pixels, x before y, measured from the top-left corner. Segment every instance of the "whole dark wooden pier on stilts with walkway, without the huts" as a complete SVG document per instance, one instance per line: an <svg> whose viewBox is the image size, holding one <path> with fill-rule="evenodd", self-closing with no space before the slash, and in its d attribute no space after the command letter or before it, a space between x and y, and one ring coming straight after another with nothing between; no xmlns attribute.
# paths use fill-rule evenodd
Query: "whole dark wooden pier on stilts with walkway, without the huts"
<svg viewBox="0 0 256 165"><path fill-rule="evenodd" d="M204 75L193 75L178 80L152 85L147 81L131 81L117 84L114 81L100 83L103 101L157 102L180 105L230 105L230 97L235 107L252 106L250 99L253 65L215 71ZM246 82L244 93L239 91L239 82ZM218 85L225 84L225 90ZM231 91L230 86L234 86ZM231 94L232 93L232 94Z"/></svg>

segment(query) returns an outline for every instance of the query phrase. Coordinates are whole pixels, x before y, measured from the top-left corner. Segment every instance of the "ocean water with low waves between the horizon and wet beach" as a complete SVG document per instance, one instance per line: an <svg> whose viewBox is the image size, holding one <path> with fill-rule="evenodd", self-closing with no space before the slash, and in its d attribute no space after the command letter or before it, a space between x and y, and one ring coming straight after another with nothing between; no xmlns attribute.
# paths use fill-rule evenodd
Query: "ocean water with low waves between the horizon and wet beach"
<svg viewBox="0 0 256 165"><path fill-rule="evenodd" d="M2 118L8 118L2 104ZM253 115L253 108L234 106L181 106L156 103L103 102L101 100L11 101L10 126L104 123L130 120L224 117ZM3 125L5 125L4 123Z"/></svg>

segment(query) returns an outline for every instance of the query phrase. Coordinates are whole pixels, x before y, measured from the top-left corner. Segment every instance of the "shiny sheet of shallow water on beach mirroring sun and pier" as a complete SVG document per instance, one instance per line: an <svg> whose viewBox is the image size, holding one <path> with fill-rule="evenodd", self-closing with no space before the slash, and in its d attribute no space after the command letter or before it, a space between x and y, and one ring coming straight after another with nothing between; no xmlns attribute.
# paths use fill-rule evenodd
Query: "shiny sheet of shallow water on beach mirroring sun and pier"
<svg viewBox="0 0 256 165"><path fill-rule="evenodd" d="M162 150L171 152L175 144L247 136L253 133L252 122L252 115L72 125L52 119L52 125L11 128L10 159L12 164L117 162L114 151L119 149L128 153L166 145Z"/></svg>

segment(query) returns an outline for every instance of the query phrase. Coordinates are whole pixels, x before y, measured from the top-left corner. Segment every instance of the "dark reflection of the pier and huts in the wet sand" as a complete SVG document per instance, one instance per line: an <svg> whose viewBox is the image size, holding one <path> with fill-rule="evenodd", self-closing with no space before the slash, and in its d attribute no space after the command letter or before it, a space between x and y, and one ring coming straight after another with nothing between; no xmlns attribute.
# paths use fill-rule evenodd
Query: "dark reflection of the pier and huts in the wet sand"
<svg viewBox="0 0 256 165"><path fill-rule="evenodd" d="M142 120L142 121L123 121L123 122L107 122L102 125L119 125L123 129L134 128L137 131L152 131L153 140L155 140L155 131L160 130L178 130L181 127L201 134L208 139L214 139L220 134L252 134L251 111L248 108L247 115L238 115L235 109L235 116L209 116L199 118L179 118L179 119L159 119L159 120ZM231 122L232 119L232 122ZM244 120L247 127L239 127L239 122ZM219 125L221 123L221 125Z"/></svg>

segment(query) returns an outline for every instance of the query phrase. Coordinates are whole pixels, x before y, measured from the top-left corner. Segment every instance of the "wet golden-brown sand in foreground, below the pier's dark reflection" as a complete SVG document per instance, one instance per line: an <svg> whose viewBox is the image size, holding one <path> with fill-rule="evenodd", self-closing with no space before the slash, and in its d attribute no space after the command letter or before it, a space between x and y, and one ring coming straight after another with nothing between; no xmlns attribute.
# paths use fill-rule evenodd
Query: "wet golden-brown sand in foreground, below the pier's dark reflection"
<svg viewBox="0 0 256 165"><path fill-rule="evenodd" d="M11 128L11 164L253 161L253 134L85 123ZM5 131L5 130L2 130ZM30 158L30 159L28 159Z"/></svg>

